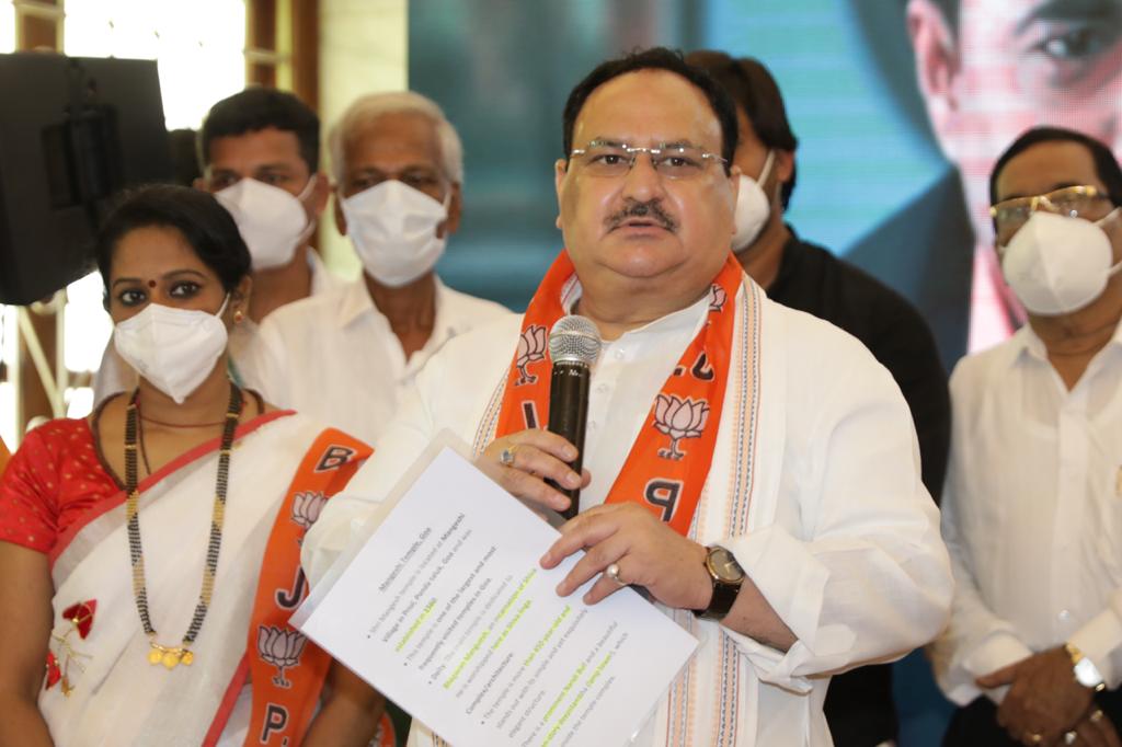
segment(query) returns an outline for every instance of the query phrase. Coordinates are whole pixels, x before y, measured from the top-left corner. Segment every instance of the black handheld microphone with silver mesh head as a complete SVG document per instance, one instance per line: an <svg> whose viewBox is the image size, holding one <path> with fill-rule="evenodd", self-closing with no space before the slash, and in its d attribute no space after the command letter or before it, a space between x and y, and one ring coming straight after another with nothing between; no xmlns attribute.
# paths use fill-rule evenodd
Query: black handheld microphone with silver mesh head
<svg viewBox="0 0 1122 747"><path fill-rule="evenodd" d="M550 331L550 433L564 436L577 446L577 459L570 462L580 474L585 460L585 425L588 421L588 387L592 365L600 354L600 331L583 316L562 316ZM572 501L561 513L570 519L580 508L580 488L563 488L552 480L551 486Z"/></svg>

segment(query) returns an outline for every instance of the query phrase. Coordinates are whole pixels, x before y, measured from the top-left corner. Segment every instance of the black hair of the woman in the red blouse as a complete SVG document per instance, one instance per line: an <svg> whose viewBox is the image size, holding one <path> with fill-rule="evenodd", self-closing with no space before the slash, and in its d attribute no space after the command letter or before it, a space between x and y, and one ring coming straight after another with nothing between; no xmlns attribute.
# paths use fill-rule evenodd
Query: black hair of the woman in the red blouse
<svg viewBox="0 0 1122 747"><path fill-rule="evenodd" d="M125 193L98 233L94 251L107 294L117 245L130 231L151 227L178 231L227 293L249 275L249 249L238 224L213 195L177 184L154 184Z"/></svg>

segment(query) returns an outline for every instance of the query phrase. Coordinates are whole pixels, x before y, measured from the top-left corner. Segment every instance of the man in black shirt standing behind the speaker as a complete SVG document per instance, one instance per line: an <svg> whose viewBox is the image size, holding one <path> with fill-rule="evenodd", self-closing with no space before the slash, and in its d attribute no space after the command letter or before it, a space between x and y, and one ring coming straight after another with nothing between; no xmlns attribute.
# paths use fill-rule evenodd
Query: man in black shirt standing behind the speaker
<svg viewBox="0 0 1122 747"><path fill-rule="evenodd" d="M861 340L895 378L919 435L922 479L938 501L947 467L950 399L935 339L902 296L831 252L801 240L783 221L795 183L791 131L779 86L752 58L695 52L687 62L707 71L737 103L741 167L733 248L748 275L781 304L842 328ZM875 747L896 738L889 665L835 676L826 718L838 747Z"/></svg>

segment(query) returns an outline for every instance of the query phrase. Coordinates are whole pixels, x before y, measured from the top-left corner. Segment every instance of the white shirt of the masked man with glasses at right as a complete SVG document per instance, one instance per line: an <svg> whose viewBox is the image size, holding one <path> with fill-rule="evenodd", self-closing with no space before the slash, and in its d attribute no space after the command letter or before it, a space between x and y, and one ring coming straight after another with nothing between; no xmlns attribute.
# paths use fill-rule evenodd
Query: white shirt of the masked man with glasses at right
<svg viewBox="0 0 1122 747"><path fill-rule="evenodd" d="M1070 390L1026 325L962 360L950 395L942 532L957 591L932 646L940 686L968 703L975 677L1069 642L1116 688L1122 325Z"/></svg>

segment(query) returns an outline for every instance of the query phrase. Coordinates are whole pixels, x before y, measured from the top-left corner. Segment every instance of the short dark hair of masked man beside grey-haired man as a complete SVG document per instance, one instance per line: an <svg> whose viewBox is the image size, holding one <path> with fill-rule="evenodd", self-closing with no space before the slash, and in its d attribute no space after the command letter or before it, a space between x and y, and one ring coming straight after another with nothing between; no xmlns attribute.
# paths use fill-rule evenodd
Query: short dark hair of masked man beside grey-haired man
<svg viewBox="0 0 1122 747"><path fill-rule="evenodd" d="M257 132L266 128L292 132L300 156L311 174L320 170L320 118L295 95L276 89L251 87L222 99L206 112L199 131L199 164L210 164L210 144L215 138Z"/></svg>

